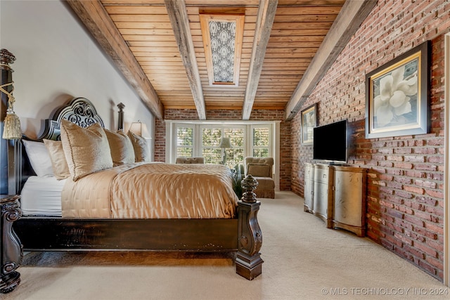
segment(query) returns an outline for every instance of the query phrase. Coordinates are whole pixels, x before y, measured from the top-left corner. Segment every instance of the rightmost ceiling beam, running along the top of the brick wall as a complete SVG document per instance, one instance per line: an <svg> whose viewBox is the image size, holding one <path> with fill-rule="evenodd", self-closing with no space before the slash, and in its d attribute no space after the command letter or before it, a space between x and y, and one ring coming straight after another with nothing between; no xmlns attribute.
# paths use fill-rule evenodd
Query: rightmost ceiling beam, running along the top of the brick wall
<svg viewBox="0 0 450 300"><path fill-rule="evenodd" d="M322 79L327 70L333 65L340 52L347 45L352 35L366 20L378 0L345 1L344 6L336 18L330 31L323 39L319 50L311 60L311 64L299 84L295 88L285 107L285 119L289 121L295 117L316 84Z"/></svg>

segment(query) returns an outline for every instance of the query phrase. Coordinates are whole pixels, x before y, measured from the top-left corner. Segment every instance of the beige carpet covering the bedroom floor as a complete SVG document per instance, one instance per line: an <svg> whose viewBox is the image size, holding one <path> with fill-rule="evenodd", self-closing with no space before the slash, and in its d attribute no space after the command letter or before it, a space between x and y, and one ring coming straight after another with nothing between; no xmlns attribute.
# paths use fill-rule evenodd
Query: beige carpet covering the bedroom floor
<svg viewBox="0 0 450 300"><path fill-rule="evenodd" d="M449 299L449 289L367 238L325 228L290 192L262 199L262 275L230 258L158 253L31 253L9 299ZM446 296L431 296L432 292Z"/></svg>

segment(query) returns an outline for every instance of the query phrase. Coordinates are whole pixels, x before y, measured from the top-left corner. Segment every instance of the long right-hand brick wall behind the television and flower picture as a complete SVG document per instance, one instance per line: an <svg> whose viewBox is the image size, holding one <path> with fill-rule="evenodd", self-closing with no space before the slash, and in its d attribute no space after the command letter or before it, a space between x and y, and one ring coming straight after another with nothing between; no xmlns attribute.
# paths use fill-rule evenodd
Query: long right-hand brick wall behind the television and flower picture
<svg viewBox="0 0 450 300"><path fill-rule="evenodd" d="M444 34L450 1L378 1L302 109L319 103L319 125L348 119L349 164L369 169L367 235L430 275L443 278ZM365 138L365 77L423 41L432 41L431 131ZM292 123L292 189L303 195L300 114Z"/></svg>

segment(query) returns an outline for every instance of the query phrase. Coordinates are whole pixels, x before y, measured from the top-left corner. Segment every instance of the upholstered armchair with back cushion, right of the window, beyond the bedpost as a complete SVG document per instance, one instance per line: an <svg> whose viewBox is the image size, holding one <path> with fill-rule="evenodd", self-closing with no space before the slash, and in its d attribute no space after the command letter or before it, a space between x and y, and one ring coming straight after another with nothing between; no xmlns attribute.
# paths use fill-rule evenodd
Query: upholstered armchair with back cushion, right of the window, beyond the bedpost
<svg viewBox="0 0 450 300"><path fill-rule="evenodd" d="M275 198L273 157L245 157L245 175L252 175L258 185L254 191L258 198Z"/></svg>

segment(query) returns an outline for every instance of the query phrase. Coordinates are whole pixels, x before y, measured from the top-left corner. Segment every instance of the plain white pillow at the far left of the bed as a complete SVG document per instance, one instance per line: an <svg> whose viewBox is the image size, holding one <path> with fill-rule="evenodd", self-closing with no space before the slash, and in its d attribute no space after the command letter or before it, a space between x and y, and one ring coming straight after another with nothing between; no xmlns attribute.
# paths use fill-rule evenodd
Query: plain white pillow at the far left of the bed
<svg viewBox="0 0 450 300"><path fill-rule="evenodd" d="M37 176L53 176L49 150L44 143L22 140L30 159L31 167Z"/></svg>

